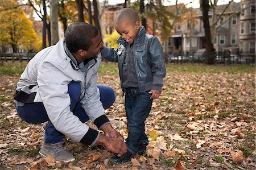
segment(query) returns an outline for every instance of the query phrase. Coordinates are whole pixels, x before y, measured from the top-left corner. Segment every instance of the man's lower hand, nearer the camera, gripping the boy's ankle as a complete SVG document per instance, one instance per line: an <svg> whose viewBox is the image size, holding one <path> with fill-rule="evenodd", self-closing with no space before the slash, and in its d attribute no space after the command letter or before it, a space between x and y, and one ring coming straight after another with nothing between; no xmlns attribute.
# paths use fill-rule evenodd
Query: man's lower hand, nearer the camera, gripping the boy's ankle
<svg viewBox="0 0 256 170"><path fill-rule="evenodd" d="M105 135L100 134L96 144L100 144L104 146L107 150L118 154L118 156L122 156L127 152L126 144L118 138L109 138Z"/></svg>

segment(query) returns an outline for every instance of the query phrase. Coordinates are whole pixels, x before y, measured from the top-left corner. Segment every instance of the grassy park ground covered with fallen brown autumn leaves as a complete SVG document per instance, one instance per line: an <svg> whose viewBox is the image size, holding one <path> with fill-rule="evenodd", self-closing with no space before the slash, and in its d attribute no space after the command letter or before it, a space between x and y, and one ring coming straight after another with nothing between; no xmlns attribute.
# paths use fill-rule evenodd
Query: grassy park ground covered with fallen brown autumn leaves
<svg viewBox="0 0 256 170"><path fill-rule="evenodd" d="M255 66L167 64L163 92L145 122L151 140L146 154L113 165L112 153L103 147L68 137L73 163L39 156L42 125L22 121L13 101L25 65L0 67L0 169L255 169ZM127 137L117 65L102 63L98 82L115 90L116 101L106 114Z"/></svg>

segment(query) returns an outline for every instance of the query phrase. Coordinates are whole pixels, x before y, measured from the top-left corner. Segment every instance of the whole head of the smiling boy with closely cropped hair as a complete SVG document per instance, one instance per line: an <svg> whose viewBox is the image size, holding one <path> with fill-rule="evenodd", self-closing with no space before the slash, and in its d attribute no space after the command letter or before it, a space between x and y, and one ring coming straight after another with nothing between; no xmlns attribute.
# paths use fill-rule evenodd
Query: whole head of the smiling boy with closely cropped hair
<svg viewBox="0 0 256 170"><path fill-rule="evenodd" d="M141 26L139 15L130 8L121 9L115 18L115 30L127 43L133 44Z"/></svg>

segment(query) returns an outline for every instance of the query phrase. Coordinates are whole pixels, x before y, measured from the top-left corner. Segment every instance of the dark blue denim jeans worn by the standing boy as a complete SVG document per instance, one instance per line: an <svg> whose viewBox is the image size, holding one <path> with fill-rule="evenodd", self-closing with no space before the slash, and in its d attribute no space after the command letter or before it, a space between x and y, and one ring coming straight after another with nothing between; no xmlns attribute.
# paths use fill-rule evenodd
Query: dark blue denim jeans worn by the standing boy
<svg viewBox="0 0 256 170"><path fill-rule="evenodd" d="M141 93L139 88L125 88L125 110L129 130L126 144L131 154L137 153L140 144L148 144L144 124L152 105L151 94L148 92Z"/></svg>

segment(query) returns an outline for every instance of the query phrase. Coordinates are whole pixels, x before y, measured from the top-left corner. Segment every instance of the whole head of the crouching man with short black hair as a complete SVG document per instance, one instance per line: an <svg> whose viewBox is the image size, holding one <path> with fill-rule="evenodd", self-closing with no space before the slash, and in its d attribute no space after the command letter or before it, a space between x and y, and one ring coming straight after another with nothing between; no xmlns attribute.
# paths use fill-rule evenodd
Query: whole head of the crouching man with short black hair
<svg viewBox="0 0 256 170"><path fill-rule="evenodd" d="M96 57L102 48L98 29L84 22L72 23L65 31L65 43L77 60Z"/></svg>

